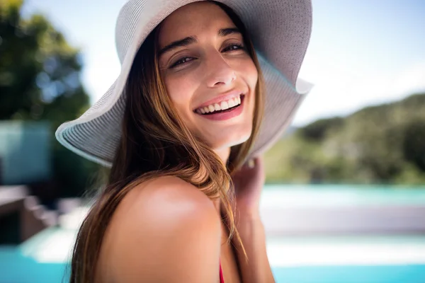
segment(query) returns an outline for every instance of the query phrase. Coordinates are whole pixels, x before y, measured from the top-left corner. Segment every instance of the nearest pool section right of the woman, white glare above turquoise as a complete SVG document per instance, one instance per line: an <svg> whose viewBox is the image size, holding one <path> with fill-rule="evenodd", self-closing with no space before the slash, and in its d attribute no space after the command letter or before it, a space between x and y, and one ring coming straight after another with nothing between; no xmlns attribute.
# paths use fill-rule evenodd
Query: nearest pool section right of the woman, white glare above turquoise
<svg viewBox="0 0 425 283"><path fill-rule="evenodd" d="M276 282L425 282L425 236L278 237L267 248Z"/></svg>

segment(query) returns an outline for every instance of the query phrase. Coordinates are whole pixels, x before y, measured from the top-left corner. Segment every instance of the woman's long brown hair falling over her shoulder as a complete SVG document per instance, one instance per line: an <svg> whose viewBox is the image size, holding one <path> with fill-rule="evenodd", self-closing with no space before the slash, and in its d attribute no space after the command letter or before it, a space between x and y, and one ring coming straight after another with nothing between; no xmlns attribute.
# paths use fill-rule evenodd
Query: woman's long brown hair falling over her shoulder
<svg viewBox="0 0 425 283"><path fill-rule="evenodd" d="M96 197L77 234L69 282L95 281L101 243L116 207L133 187L164 175L186 180L211 200L220 198L229 228L228 241L235 237L243 249L234 224L234 192L230 176L244 163L259 132L263 115L263 76L242 21L229 7L213 3L220 6L239 28L246 50L259 72L251 137L232 146L229 161L223 164L209 146L191 134L177 115L160 76L158 25L143 42L132 64L124 94L126 106L120 143L106 185Z"/></svg>

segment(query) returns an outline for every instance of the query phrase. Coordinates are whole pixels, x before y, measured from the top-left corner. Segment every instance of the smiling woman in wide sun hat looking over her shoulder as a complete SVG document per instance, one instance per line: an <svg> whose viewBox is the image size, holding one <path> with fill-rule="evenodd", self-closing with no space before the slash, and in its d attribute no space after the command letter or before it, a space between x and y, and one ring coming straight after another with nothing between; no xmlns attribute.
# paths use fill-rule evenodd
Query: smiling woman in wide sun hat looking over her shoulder
<svg viewBox="0 0 425 283"><path fill-rule="evenodd" d="M302 101L311 5L223 2L121 9L119 78L57 130L64 146L111 166L79 230L71 282L274 282L259 156Z"/></svg>

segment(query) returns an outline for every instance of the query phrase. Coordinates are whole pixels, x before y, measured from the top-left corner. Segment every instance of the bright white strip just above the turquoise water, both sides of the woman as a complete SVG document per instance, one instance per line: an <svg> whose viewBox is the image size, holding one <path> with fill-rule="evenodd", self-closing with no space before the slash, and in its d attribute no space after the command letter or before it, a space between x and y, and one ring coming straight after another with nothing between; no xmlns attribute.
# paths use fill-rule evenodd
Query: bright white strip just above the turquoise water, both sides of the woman
<svg viewBox="0 0 425 283"><path fill-rule="evenodd" d="M77 231L49 228L14 250L38 263L68 262ZM268 236L267 252L271 265L425 265L425 235L375 236ZM4 261L3 261L4 263Z"/></svg>

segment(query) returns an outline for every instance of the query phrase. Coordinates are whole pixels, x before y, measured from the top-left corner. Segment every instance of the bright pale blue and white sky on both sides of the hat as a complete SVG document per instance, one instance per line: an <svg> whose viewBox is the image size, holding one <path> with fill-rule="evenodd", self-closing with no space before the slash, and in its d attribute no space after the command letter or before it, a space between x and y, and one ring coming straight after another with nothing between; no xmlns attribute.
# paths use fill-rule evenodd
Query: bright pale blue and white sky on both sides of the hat
<svg viewBox="0 0 425 283"><path fill-rule="evenodd" d="M120 73L115 21L125 0L25 3L25 13L45 14L81 49L81 79L92 103L101 98ZM312 0L312 6L312 36L299 76L314 88L293 125L425 92L425 1Z"/></svg>

